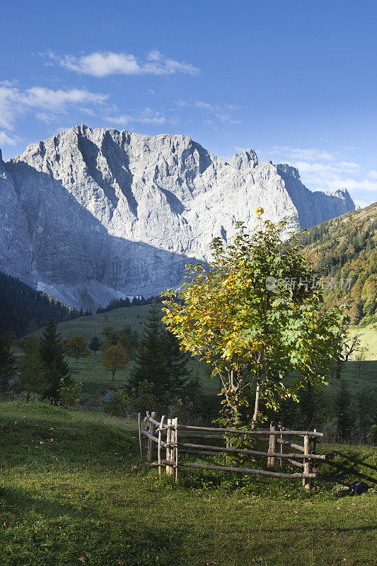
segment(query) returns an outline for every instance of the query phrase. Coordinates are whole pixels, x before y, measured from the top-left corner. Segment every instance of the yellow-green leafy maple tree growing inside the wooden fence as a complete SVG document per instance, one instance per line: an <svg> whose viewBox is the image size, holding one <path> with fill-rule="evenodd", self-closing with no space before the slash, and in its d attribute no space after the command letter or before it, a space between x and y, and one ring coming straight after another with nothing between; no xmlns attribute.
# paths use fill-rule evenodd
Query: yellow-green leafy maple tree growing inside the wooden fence
<svg viewBox="0 0 377 566"><path fill-rule="evenodd" d="M215 238L209 266L187 265L182 289L163 294L163 322L219 377L233 424L257 422L261 401L277 409L325 383L347 319L342 307L323 308L298 236L283 242L286 223L262 214L252 234L238 223L230 245Z"/></svg>

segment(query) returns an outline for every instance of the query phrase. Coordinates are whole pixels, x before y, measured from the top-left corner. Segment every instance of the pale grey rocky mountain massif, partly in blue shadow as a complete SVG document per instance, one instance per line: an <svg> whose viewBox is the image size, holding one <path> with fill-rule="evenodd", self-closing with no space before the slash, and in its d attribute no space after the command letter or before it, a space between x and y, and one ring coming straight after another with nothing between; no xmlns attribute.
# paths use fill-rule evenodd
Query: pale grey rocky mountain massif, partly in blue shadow
<svg viewBox="0 0 377 566"><path fill-rule="evenodd" d="M354 208L253 150L217 158L189 137L77 126L0 162L0 269L73 306L178 287L255 209L289 229ZM7 247L6 247L7 246Z"/></svg>

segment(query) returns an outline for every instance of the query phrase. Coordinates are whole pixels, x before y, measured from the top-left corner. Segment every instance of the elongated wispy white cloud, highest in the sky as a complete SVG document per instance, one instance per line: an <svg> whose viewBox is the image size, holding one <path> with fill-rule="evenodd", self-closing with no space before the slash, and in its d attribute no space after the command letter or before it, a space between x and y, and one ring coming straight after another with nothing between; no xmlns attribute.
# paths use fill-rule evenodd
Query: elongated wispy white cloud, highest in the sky
<svg viewBox="0 0 377 566"><path fill-rule="evenodd" d="M191 63L170 59L157 50L149 52L144 62L139 62L132 54L112 51L98 51L88 55L64 55L59 57L47 53L53 61L69 71L103 78L110 75L171 75L185 73L197 75L200 69Z"/></svg>

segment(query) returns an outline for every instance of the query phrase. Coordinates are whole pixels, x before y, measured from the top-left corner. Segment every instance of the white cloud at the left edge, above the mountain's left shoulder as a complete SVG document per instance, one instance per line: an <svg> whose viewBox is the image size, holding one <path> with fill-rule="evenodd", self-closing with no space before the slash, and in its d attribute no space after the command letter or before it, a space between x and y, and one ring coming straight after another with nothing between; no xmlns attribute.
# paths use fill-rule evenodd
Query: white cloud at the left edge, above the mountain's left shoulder
<svg viewBox="0 0 377 566"><path fill-rule="evenodd" d="M108 95L91 93L86 88L54 90L33 86L23 91L16 86L0 86L0 127L13 129L16 120L28 112L35 112L38 120L50 122L71 106L103 105L107 99Z"/></svg>

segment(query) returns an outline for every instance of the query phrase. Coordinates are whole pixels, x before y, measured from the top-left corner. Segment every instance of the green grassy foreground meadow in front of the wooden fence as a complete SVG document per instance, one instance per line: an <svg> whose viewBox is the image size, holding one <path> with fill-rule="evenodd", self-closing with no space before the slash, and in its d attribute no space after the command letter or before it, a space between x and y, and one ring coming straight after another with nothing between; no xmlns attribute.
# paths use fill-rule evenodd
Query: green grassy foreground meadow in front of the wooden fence
<svg viewBox="0 0 377 566"><path fill-rule="evenodd" d="M49 405L0 403L0 429L1 566L373 563L373 493L175 486L141 465L134 422Z"/></svg>

